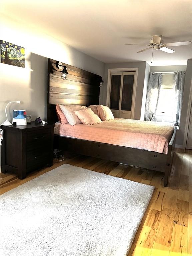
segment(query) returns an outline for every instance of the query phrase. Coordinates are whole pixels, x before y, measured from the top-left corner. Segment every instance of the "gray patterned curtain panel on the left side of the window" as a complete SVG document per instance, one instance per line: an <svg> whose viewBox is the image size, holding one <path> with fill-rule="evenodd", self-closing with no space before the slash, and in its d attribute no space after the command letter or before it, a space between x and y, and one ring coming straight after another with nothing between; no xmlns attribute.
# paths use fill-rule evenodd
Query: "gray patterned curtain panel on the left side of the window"
<svg viewBox="0 0 192 256"><path fill-rule="evenodd" d="M145 120L157 121L155 114L157 111L159 93L162 83L162 74L150 72L149 84L147 88L147 98L145 105Z"/></svg>

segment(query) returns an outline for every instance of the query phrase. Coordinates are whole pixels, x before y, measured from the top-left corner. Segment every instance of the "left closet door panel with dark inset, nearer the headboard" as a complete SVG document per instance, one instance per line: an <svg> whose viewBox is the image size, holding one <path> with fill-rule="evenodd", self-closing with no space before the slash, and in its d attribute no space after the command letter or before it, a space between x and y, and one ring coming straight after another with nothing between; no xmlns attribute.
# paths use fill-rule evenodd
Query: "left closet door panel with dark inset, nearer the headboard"
<svg viewBox="0 0 192 256"><path fill-rule="evenodd" d="M119 117L122 72L111 72L110 104L114 117Z"/></svg>

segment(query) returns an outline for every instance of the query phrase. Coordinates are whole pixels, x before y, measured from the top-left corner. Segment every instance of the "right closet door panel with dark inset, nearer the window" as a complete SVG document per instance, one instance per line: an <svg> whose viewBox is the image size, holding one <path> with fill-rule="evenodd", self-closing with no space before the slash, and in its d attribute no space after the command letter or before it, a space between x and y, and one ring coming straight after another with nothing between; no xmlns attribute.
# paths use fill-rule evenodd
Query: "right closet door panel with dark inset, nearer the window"
<svg viewBox="0 0 192 256"><path fill-rule="evenodd" d="M131 119L133 105L133 87L135 72L123 72L123 81L120 93L120 118Z"/></svg>

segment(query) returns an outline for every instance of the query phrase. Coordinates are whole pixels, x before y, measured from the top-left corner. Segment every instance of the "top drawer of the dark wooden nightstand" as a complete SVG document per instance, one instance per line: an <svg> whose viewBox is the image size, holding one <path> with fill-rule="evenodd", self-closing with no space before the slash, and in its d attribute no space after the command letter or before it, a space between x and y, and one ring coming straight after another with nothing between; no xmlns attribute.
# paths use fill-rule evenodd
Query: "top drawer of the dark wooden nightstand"
<svg viewBox="0 0 192 256"><path fill-rule="evenodd" d="M50 129L28 132L26 135L26 151L43 149L49 146L51 142L50 134Z"/></svg>

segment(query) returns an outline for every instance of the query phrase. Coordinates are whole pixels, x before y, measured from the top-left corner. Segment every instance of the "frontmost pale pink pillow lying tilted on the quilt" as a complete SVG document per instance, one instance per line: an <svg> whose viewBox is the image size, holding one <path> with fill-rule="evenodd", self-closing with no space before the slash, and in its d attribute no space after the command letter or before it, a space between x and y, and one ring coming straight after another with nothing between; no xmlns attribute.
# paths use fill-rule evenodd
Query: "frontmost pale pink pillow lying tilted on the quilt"
<svg viewBox="0 0 192 256"><path fill-rule="evenodd" d="M98 115L96 115L90 108L75 110L74 112L83 124L91 125L102 123Z"/></svg>

